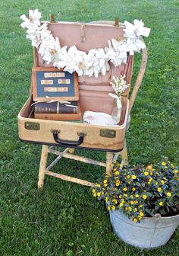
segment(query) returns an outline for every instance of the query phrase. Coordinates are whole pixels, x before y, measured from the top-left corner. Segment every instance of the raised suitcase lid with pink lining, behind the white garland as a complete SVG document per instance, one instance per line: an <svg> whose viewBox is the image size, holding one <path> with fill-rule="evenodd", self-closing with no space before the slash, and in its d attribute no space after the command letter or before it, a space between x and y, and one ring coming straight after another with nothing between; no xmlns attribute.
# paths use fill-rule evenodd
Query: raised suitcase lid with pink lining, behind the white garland
<svg viewBox="0 0 179 256"><path fill-rule="evenodd" d="M76 46L77 50L88 52L91 49L105 48L108 46L108 40L112 38L122 39L124 36L124 26L119 27L113 24L93 24L81 22L57 22L48 23L48 29L51 31L53 37L58 37L61 47L63 46ZM85 40L83 40L85 37ZM43 61L42 56L34 50L34 66L39 67L52 67ZM127 84L131 84L132 70L133 70L133 56L127 56L127 64L122 63L121 66L115 67L109 63L110 70L105 75L99 74L98 78L95 76L89 77L86 75L78 77L79 88L86 86L85 89L94 91L105 90L114 92L110 82L113 77L125 74ZM103 87L103 88L102 88ZM130 87L127 88L123 95L127 95Z"/></svg>

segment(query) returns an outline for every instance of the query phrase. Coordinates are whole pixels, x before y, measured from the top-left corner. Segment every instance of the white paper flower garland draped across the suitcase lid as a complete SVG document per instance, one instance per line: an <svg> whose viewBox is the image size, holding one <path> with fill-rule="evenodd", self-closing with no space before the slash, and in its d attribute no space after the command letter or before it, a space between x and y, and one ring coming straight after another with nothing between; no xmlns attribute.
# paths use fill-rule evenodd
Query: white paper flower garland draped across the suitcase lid
<svg viewBox="0 0 179 256"><path fill-rule="evenodd" d="M23 20L21 27L27 29L27 39L31 40L32 46L38 49L42 59L58 69L63 68L64 71L70 73L77 72L78 75L95 75L99 73L105 75L109 70L108 62L114 66L120 66L121 63L127 62L127 53L133 55L139 52L146 45L140 39L140 36L148 37L150 29L144 27L142 21L134 20L133 24L124 22L124 37L122 41L112 38L108 40L108 47L105 49L91 49L88 53L77 50L76 46L63 46L54 38L51 31L48 30L48 23L40 24L41 13L36 10L29 11L29 18L24 14L20 16Z"/></svg>

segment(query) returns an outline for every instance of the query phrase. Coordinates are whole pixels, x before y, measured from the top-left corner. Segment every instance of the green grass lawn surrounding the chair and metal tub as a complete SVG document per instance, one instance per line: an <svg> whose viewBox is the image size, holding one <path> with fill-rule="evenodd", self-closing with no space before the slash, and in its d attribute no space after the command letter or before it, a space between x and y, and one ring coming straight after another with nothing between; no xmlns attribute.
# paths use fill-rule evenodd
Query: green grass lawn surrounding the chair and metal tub
<svg viewBox="0 0 179 256"><path fill-rule="evenodd" d="M131 164L159 161L167 155L179 164L179 2L171 1L11 1L0 4L0 255L1 256L174 256L179 232L163 248L141 251L125 245L112 232L104 205L89 189L47 177L37 190L41 146L20 142L17 114L28 97L33 51L20 28L21 14L39 8L64 21L142 19L151 27L146 39L149 62L133 107L127 146ZM136 59L140 59L139 55ZM134 67L136 77L138 63ZM104 153L79 151L105 160ZM62 173L95 181L102 168L63 159Z"/></svg>

